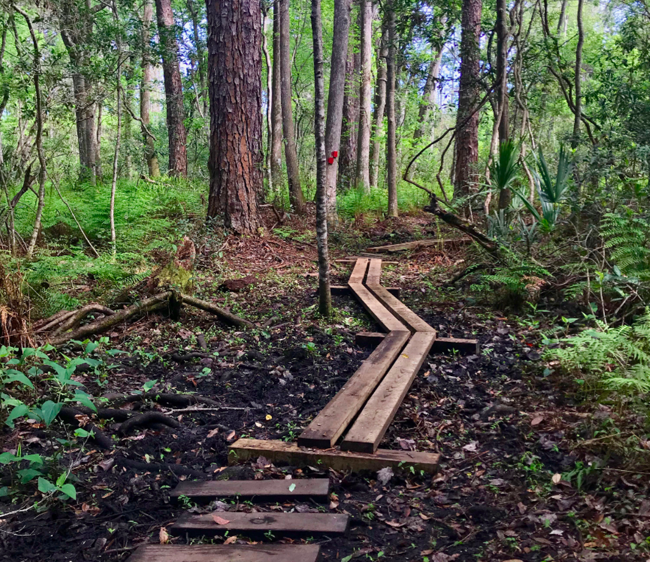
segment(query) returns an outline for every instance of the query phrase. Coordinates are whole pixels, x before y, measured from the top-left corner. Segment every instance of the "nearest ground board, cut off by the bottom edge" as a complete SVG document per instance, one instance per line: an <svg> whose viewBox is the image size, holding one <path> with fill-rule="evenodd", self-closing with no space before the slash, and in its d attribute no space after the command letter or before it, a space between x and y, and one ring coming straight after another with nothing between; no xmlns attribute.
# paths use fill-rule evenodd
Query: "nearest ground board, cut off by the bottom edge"
<svg viewBox="0 0 650 562"><path fill-rule="evenodd" d="M316 562L317 544L144 544L129 562Z"/></svg>

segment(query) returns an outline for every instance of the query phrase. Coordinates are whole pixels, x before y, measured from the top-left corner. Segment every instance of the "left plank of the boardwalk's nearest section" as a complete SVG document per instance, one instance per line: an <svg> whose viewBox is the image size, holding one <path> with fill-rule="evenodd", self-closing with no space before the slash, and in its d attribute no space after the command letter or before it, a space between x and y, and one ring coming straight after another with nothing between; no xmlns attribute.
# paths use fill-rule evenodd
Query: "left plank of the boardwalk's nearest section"
<svg viewBox="0 0 650 562"><path fill-rule="evenodd" d="M392 331L298 437L301 447L328 449L363 407L408 342L410 333ZM296 480L298 482L298 480Z"/></svg>

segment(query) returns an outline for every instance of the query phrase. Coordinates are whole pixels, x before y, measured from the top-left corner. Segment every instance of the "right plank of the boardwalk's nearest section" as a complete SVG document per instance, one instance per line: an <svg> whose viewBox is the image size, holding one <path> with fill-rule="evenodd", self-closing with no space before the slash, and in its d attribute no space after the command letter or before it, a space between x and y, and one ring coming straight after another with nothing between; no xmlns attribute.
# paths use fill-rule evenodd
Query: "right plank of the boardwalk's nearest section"
<svg viewBox="0 0 650 562"><path fill-rule="evenodd" d="M434 340L435 333L413 334L346 434L341 450L363 453L377 450Z"/></svg>

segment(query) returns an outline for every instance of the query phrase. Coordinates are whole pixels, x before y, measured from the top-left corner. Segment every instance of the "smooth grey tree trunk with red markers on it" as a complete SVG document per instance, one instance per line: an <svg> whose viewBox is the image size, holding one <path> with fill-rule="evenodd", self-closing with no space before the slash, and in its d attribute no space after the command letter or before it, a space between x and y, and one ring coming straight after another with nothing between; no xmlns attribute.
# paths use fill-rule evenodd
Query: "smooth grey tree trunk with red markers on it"
<svg viewBox="0 0 650 562"><path fill-rule="evenodd" d="M350 0L334 0L334 31L331 45L330 92L327 101L327 122L325 124L326 155L338 153L341 144L341 123L343 121L343 96L345 94L345 63L348 58L348 34L350 32ZM327 220L336 225L336 176L339 170L338 158L328 164L326 172Z"/></svg>

